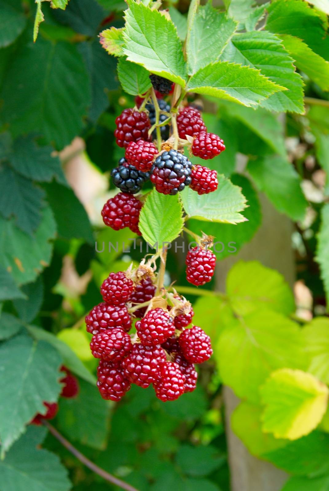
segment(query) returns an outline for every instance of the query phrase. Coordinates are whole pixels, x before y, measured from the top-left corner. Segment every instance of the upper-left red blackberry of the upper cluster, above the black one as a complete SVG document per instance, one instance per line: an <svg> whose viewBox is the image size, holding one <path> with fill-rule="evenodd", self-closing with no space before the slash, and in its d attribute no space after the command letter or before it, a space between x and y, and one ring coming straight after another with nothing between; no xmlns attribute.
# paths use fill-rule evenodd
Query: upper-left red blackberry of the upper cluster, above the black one
<svg viewBox="0 0 329 491"><path fill-rule="evenodd" d="M144 111L124 109L116 118L116 125L114 136L120 147L126 148L130 141L149 140L150 120Z"/></svg>

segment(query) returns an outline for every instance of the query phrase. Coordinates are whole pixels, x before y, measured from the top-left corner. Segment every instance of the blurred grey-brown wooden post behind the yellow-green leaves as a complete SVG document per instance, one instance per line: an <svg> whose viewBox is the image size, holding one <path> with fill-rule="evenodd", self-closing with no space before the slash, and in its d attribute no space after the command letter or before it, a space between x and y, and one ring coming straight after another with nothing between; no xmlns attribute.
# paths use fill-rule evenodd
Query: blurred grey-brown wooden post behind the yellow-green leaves
<svg viewBox="0 0 329 491"><path fill-rule="evenodd" d="M293 286L295 279L295 262L291 247L293 225L288 218L273 208L264 195L260 196L260 200L263 220L252 241L244 245L237 255L217 262L218 290L225 291L226 275L239 259L258 260L264 266L282 273ZM287 480L287 474L274 465L253 457L231 430L231 414L239 404L239 399L229 387L224 387L224 402L231 491L280 491Z"/></svg>

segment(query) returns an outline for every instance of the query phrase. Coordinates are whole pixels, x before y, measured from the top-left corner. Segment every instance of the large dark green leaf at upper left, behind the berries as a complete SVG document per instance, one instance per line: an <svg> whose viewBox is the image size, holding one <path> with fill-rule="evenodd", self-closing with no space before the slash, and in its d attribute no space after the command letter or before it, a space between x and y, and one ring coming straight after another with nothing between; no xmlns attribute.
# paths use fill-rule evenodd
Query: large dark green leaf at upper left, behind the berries
<svg viewBox="0 0 329 491"><path fill-rule="evenodd" d="M82 129L90 103L89 75L74 44L40 38L19 47L0 96L2 120L14 137L36 132L61 149Z"/></svg>

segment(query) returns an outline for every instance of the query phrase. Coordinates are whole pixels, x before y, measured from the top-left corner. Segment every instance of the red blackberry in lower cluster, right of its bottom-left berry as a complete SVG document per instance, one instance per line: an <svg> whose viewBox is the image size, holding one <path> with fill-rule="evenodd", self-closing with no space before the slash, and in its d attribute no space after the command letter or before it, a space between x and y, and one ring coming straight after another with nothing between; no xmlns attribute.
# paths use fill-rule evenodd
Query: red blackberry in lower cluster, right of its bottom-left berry
<svg viewBox="0 0 329 491"><path fill-rule="evenodd" d="M132 351L122 361L122 367L130 382L146 388L157 381L164 361L166 354L160 345L148 347L135 343Z"/></svg>

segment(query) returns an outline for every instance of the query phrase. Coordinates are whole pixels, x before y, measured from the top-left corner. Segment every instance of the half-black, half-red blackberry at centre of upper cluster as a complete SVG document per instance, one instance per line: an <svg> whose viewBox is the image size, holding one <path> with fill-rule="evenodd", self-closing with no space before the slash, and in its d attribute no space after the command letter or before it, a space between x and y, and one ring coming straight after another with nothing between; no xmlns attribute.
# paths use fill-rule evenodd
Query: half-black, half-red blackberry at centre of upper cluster
<svg viewBox="0 0 329 491"><path fill-rule="evenodd" d="M177 194L191 184L191 172L192 163L186 155L177 150L169 150L156 158L150 180L156 191Z"/></svg>

